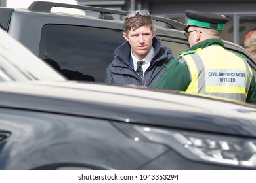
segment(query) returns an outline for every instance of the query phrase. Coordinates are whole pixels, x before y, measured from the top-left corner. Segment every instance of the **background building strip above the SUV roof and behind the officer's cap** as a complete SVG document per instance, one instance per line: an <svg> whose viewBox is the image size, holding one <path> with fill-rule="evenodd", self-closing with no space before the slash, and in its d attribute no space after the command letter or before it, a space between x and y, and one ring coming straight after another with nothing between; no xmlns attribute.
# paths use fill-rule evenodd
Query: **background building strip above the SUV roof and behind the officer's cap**
<svg viewBox="0 0 256 183"><path fill-rule="evenodd" d="M1 6L28 8L34 0L0 0ZM49 1L49 0L45 0ZM51 1L51 0L50 0ZM52 0L118 10L146 9L154 16L173 18L186 23L185 10L215 12L230 18L223 39L244 46L245 35L256 29L255 0Z"/></svg>

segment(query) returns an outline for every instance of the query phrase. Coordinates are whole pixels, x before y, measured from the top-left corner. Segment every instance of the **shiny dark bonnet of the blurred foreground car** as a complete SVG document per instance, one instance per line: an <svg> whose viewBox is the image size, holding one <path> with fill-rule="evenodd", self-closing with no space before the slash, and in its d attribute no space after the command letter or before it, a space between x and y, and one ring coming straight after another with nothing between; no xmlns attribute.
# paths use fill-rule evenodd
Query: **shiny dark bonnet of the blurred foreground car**
<svg viewBox="0 0 256 183"><path fill-rule="evenodd" d="M0 107L256 137L255 105L140 86L3 82Z"/></svg>

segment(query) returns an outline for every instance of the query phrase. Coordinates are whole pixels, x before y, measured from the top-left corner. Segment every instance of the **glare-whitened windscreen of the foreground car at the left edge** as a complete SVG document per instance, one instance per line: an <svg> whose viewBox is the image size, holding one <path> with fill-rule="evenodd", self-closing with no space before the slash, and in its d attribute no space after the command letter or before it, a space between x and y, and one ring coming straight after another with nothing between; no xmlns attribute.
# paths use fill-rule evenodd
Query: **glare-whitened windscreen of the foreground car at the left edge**
<svg viewBox="0 0 256 183"><path fill-rule="evenodd" d="M0 29L0 81L66 80Z"/></svg>

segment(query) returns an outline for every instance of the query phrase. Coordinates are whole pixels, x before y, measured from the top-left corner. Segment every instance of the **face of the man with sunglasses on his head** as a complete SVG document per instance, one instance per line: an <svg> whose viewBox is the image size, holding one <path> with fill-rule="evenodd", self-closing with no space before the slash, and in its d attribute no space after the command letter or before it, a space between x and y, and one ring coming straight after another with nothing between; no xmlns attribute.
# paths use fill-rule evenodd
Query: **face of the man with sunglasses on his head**
<svg viewBox="0 0 256 183"><path fill-rule="evenodd" d="M128 34L123 33L123 37L130 43L133 55L141 60L150 52L154 33L149 26L144 26L132 29Z"/></svg>

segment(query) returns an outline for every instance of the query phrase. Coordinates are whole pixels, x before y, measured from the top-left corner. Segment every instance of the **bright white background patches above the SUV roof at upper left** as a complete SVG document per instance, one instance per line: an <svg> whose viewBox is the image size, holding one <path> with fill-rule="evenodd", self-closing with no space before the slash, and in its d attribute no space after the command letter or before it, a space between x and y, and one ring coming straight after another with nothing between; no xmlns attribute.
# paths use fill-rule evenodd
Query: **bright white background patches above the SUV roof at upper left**
<svg viewBox="0 0 256 183"><path fill-rule="evenodd" d="M6 0L7 7L9 8L28 8L33 1L38 0ZM42 1L52 1L57 3L70 3L77 5L75 0L42 0Z"/></svg>

